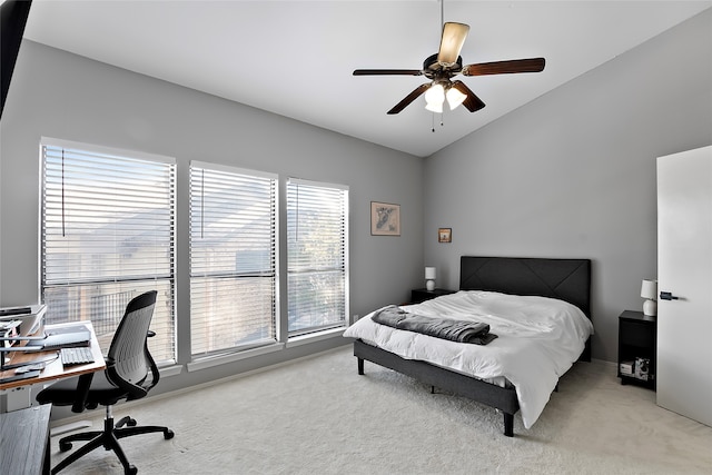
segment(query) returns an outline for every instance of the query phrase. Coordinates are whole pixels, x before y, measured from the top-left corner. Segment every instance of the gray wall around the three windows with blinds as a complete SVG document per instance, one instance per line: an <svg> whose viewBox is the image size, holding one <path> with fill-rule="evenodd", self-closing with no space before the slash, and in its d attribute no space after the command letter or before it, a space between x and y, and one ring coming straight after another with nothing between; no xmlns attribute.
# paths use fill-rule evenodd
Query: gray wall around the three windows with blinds
<svg viewBox="0 0 712 475"><path fill-rule="evenodd" d="M403 301L411 288L423 285L422 158L31 41L22 43L0 133L1 306L38 300L42 136L177 159L179 344L187 340L189 330L189 160L277 172L281 179L299 177L348 185L352 315ZM370 200L402 205L400 237L370 236ZM337 337L200 375L184 373L161 383L161 388L199 383L344 343ZM181 359L185 362L186 355Z"/></svg>

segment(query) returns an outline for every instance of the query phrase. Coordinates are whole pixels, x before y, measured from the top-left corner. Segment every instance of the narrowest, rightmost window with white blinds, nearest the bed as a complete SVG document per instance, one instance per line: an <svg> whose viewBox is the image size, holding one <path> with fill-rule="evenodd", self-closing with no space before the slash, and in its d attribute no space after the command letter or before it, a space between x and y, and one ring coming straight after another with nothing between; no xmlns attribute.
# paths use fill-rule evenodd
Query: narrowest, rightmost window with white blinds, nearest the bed
<svg viewBox="0 0 712 475"><path fill-rule="evenodd" d="M287 184L289 336L346 325L348 188Z"/></svg>

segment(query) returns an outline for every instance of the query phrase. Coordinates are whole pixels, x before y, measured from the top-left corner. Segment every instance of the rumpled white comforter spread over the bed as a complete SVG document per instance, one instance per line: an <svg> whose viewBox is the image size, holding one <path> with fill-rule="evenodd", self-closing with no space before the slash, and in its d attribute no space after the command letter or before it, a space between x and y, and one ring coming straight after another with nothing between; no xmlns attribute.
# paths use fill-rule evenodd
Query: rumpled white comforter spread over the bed
<svg viewBox="0 0 712 475"><path fill-rule="evenodd" d="M344 336L477 378L505 377L516 388L526 428L542 414L560 376L593 334L593 325L577 307L546 297L461 290L405 308L418 315L483 321L498 338L486 346L454 343L376 324L373 314Z"/></svg>

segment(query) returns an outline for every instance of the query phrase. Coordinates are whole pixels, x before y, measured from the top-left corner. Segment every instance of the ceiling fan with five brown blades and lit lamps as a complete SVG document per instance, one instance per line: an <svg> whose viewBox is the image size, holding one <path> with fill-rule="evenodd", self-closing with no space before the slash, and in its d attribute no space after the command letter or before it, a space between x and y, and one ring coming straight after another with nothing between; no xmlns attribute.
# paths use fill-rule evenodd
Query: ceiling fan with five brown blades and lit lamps
<svg viewBox="0 0 712 475"><path fill-rule="evenodd" d="M464 23L443 24L443 36L438 52L423 62L423 69L356 69L354 76L425 76L431 82L421 85L396 103L388 113L398 113L421 95L425 93L426 109L443 112L443 102L447 99L451 110L461 103L475 112L485 103L461 80L453 77L510 75L516 72L540 72L544 70L544 58L514 59L508 61L481 62L463 66L459 51L465 43L469 27Z"/></svg>

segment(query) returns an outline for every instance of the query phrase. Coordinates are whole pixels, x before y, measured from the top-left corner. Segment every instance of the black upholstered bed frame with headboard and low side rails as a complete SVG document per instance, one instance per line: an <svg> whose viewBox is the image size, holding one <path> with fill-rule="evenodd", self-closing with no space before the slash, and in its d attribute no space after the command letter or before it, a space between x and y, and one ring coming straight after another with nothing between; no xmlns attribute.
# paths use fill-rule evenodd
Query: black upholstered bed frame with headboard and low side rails
<svg viewBox="0 0 712 475"><path fill-rule="evenodd" d="M490 290L514 295L537 295L568 301L591 319L591 260L463 256L459 268L461 290ZM419 382L457 396L495 407L504 414L504 435L514 435L514 415L520 410L516 390L444 369L425 362L404 359L393 353L354 342L358 374L364 360L394 369ZM591 340L580 360L591 360Z"/></svg>

